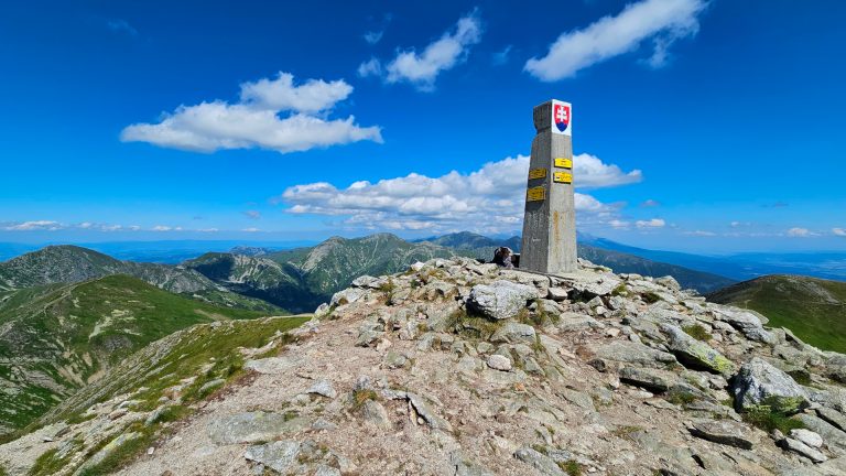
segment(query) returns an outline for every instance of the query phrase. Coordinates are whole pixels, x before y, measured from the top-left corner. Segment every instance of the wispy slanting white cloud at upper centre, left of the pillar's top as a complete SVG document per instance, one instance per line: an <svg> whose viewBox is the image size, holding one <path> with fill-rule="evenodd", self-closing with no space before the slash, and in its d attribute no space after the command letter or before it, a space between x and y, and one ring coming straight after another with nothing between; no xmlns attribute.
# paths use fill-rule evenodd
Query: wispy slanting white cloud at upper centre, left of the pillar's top
<svg viewBox="0 0 846 476"><path fill-rule="evenodd" d="M458 20L455 29L429 44L423 52L400 51L387 65L370 58L358 67L359 76L382 76L387 83L411 83L421 90L432 90L437 75L467 58L470 46L481 39L481 22L476 12Z"/></svg>

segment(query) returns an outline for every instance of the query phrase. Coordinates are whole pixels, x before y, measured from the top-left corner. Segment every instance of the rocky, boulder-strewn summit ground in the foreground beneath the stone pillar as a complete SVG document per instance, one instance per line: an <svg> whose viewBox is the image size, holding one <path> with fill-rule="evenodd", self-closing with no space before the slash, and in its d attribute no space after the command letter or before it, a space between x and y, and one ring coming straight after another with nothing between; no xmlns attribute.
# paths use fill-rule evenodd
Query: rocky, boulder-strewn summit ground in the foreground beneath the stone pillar
<svg viewBox="0 0 846 476"><path fill-rule="evenodd" d="M356 279L275 340L245 339L213 355L218 344L202 339L214 331L200 331L183 332L194 344L174 357L195 363L197 376L149 400L155 379L187 367L161 376L116 369L154 378L115 396L89 391L74 418L63 418L69 403L59 408L0 445L2 468L846 474L846 388L837 380L846 356L768 327L753 312L706 302L672 278L614 274L587 261L550 277L433 259ZM231 338L219 342L223 349ZM141 354L159 355L162 345ZM209 370L232 354L245 358L240 377ZM153 403L141 404L143 396ZM182 413L169 411L180 404Z"/></svg>

